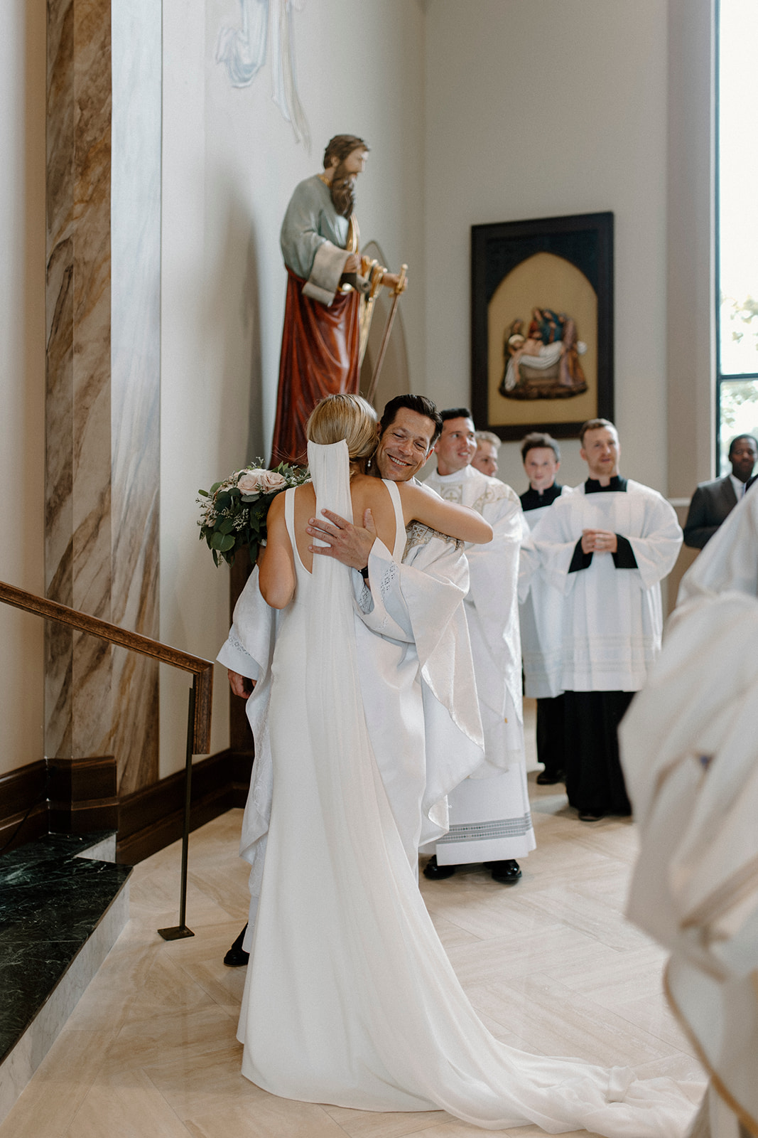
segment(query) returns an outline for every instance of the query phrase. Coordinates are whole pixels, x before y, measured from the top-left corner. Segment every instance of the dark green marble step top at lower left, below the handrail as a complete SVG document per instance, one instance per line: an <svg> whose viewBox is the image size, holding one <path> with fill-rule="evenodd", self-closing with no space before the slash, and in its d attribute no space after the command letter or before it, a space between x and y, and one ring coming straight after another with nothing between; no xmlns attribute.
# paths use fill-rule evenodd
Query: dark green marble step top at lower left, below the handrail
<svg viewBox="0 0 758 1138"><path fill-rule="evenodd" d="M0 857L0 1064L119 894L113 833L47 834ZM90 852L91 851L91 852Z"/></svg>

